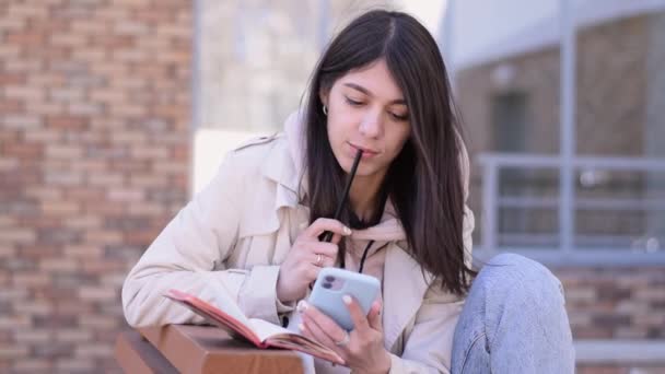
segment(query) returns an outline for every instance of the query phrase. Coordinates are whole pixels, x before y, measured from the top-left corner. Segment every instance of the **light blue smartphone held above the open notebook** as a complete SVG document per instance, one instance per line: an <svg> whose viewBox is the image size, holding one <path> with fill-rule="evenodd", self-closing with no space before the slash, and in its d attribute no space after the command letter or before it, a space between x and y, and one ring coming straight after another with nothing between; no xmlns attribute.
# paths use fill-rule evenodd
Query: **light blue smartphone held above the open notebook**
<svg viewBox="0 0 665 374"><path fill-rule="evenodd" d="M353 320L341 297L350 295L355 299L366 316L380 291L381 282L374 277L345 269L324 268L318 272L307 302L350 331L353 329Z"/></svg>

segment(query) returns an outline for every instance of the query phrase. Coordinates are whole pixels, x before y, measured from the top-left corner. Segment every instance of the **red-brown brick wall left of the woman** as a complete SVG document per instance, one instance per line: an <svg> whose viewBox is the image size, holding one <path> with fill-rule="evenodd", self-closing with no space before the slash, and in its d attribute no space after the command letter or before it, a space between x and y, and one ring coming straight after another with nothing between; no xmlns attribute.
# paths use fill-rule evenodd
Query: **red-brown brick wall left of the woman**
<svg viewBox="0 0 665 374"><path fill-rule="evenodd" d="M191 3L0 2L0 372L116 370L119 290L187 199Z"/></svg>

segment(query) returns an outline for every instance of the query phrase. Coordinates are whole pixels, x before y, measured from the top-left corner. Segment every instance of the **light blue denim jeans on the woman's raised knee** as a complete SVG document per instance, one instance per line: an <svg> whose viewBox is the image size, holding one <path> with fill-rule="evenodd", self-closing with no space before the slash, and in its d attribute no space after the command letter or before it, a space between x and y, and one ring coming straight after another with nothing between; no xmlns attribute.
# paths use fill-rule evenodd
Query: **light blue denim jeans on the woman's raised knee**
<svg viewBox="0 0 665 374"><path fill-rule="evenodd" d="M474 280L453 340L452 374L574 373L561 282L542 265L501 254Z"/></svg>

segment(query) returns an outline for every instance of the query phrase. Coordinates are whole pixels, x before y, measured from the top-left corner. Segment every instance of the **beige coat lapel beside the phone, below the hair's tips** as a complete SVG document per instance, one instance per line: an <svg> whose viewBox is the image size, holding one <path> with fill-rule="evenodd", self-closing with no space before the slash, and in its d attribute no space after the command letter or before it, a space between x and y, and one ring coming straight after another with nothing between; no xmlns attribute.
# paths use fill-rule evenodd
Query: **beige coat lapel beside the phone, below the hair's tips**
<svg viewBox="0 0 665 374"><path fill-rule="evenodd" d="M398 245L387 248L383 276L384 344L390 350L422 304L431 277ZM425 278L427 277L427 278Z"/></svg>

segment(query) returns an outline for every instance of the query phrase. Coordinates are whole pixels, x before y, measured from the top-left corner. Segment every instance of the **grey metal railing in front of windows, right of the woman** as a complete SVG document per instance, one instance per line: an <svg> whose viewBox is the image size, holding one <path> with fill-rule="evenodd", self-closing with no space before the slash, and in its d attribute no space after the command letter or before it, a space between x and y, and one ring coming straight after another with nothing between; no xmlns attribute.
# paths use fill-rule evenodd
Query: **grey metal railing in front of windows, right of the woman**
<svg viewBox="0 0 665 374"><path fill-rule="evenodd" d="M511 170L551 170L561 173L562 159L557 155L541 154L514 154L514 153L482 153L478 155L478 162L482 166L482 212L481 212L481 246L478 248L485 254L498 252L525 253L530 257L538 257L540 260L549 262L645 262L665 264L665 252L638 253L633 248L627 247L626 250L618 248L598 249L585 248L580 245L588 242L588 235L575 236L575 227L560 226L558 233L533 234L525 233L535 241L540 241L542 245L528 247L522 245L503 245L500 243L500 209L552 209L557 210L559 217L575 217L578 209L590 209L598 211L618 210L642 210L642 211L663 211L665 214L665 198L580 198L575 199L575 179L571 183L571 188L560 189L558 197L533 197L533 196L501 196L500 173L504 168ZM573 173L579 171L606 171L606 172L646 172L664 173L665 159L650 157L606 157L606 156L576 156L571 160ZM564 196L570 194L570 196ZM574 219L573 219L574 222ZM518 236L518 235L517 235ZM621 235L605 235L600 239L607 243L621 242ZM511 237L511 234L508 234ZM513 243L520 242L518 237L512 234ZM626 237L623 237L626 239ZM551 245L558 242L558 245ZM600 241L603 242L603 241ZM549 243L549 246L548 246Z"/></svg>

